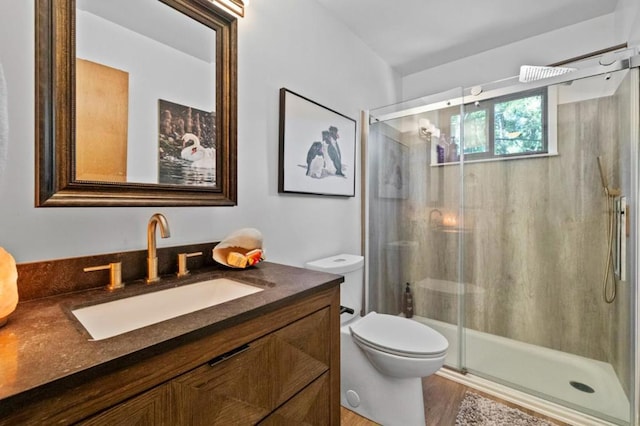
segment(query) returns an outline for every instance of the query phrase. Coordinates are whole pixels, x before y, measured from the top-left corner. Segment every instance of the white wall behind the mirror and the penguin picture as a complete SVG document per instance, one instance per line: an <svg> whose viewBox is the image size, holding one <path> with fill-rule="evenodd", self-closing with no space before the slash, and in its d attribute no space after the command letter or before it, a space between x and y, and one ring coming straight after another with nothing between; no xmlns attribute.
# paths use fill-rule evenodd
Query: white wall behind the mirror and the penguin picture
<svg viewBox="0 0 640 426"><path fill-rule="evenodd" d="M18 262L144 249L146 224L156 211L171 228L171 238L159 238L159 247L215 241L253 226L262 230L267 258L276 262L302 265L359 252L359 186L355 198L277 191L280 87L358 121L361 109L398 100L399 79L390 67L316 2L254 0L239 23L236 207L34 208L33 22L33 1L0 0L0 63L9 106L0 246Z"/></svg>

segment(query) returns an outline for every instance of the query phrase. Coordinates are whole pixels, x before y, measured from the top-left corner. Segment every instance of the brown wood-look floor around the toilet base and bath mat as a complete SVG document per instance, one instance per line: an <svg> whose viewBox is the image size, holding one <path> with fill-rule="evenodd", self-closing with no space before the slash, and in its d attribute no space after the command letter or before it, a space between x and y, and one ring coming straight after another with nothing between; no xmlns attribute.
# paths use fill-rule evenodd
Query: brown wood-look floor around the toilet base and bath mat
<svg viewBox="0 0 640 426"><path fill-rule="evenodd" d="M556 425L566 426L565 423L558 422L557 420L550 419L540 415L529 409L520 407L516 404L512 404L507 401L500 400L491 395L484 394L476 389L471 389L460 383L453 382L443 377L432 375L423 379L422 389L424 394L424 405L426 410L427 426L453 426L456 423L456 415L458 414L458 408L460 403L464 399L465 392L470 390L477 394L480 394L486 398L500 401L501 403L515 407L527 414L535 417L540 417L547 420L549 423ZM341 408L341 424L343 426L376 426L374 423L364 417L357 415L356 413Z"/></svg>

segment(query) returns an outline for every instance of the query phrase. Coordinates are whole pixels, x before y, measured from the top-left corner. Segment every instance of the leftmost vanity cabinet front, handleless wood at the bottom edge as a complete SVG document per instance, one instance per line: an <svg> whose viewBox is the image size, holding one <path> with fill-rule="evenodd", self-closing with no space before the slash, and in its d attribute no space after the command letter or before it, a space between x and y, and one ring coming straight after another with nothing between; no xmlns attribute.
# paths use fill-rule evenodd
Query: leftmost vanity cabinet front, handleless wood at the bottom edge
<svg viewBox="0 0 640 426"><path fill-rule="evenodd" d="M133 397L96 416L80 422L81 425L171 425L169 385L161 385Z"/></svg>

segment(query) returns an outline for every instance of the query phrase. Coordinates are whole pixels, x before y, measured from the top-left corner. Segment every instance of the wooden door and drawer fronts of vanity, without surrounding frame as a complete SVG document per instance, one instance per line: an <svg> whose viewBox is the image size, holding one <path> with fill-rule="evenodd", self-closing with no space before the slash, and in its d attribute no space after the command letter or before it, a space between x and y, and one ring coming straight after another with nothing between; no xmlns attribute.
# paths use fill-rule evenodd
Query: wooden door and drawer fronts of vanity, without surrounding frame
<svg viewBox="0 0 640 426"><path fill-rule="evenodd" d="M325 307L81 424L331 424L330 319Z"/></svg>

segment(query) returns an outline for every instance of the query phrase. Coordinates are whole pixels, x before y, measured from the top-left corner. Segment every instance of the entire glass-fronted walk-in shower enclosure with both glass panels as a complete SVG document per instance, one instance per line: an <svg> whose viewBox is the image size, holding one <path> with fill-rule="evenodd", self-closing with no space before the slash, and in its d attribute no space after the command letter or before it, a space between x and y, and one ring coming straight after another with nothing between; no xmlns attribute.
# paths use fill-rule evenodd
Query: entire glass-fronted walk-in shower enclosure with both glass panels
<svg viewBox="0 0 640 426"><path fill-rule="evenodd" d="M405 314L409 283L448 371L636 424L639 65L370 111L368 309Z"/></svg>

